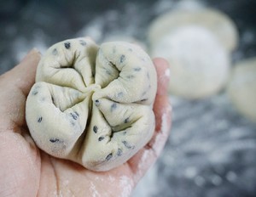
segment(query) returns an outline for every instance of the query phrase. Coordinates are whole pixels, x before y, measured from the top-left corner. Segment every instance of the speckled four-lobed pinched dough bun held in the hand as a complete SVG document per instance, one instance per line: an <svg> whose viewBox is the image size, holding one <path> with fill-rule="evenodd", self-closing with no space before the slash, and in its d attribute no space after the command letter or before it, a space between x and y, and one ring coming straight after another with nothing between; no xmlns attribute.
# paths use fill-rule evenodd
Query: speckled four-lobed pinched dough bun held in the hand
<svg viewBox="0 0 256 197"><path fill-rule="evenodd" d="M49 155L108 171L152 137L155 93L154 65L141 48L71 39L50 47L39 62L26 122Z"/></svg>

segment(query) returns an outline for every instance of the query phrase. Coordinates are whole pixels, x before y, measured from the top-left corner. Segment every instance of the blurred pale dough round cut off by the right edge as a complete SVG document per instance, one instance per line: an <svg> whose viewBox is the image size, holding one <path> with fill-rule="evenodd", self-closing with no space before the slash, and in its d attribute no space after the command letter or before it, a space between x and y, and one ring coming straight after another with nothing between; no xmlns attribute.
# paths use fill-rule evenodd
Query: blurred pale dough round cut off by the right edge
<svg viewBox="0 0 256 197"><path fill-rule="evenodd" d="M228 93L236 109L256 122L256 58L243 60L234 67Z"/></svg>

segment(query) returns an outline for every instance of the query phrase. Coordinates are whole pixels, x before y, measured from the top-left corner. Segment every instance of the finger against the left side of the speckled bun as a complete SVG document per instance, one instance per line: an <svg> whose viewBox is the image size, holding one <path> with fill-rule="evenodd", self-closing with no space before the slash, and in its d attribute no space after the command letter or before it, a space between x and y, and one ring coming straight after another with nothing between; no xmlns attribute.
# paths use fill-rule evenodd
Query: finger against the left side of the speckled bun
<svg viewBox="0 0 256 197"><path fill-rule="evenodd" d="M32 50L20 65L0 76L0 132L14 131L25 123L26 96L35 80L40 55Z"/></svg>

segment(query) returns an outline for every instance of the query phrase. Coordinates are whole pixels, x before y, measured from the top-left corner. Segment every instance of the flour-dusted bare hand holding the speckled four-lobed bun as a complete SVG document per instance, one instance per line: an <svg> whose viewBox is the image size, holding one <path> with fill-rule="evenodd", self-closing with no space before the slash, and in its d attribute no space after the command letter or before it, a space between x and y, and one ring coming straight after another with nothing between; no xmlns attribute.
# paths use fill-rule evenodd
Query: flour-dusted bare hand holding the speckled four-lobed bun
<svg viewBox="0 0 256 197"><path fill-rule="evenodd" d="M156 129L137 155L109 172L91 172L37 148L25 120L26 96L34 83L40 54L28 53L13 70L0 76L0 196L129 196L154 164L171 127L164 59L154 59L158 91L154 102Z"/></svg>

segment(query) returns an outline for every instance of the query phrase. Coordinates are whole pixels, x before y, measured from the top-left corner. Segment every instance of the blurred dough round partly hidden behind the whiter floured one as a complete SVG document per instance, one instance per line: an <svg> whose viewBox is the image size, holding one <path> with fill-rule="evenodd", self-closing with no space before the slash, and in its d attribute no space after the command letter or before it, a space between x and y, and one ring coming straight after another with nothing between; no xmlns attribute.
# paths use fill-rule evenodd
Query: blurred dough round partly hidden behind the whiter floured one
<svg viewBox="0 0 256 197"><path fill-rule="evenodd" d="M154 20L148 30L148 41L152 48L160 37L186 25L200 25L211 31L228 51L233 51L238 42L236 25L229 16L210 8L179 9L161 15Z"/></svg>

